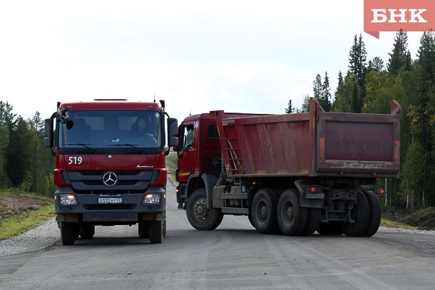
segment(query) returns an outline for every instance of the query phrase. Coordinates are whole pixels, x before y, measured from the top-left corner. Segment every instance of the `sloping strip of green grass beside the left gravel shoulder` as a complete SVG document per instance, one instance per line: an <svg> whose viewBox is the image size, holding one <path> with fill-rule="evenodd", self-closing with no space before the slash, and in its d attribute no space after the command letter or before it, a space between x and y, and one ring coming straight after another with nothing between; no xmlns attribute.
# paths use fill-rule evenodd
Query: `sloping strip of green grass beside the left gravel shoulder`
<svg viewBox="0 0 435 290"><path fill-rule="evenodd" d="M50 204L40 209L19 214L18 216L14 215L7 219L0 219L0 240L23 234L53 217L55 217L54 204Z"/></svg>

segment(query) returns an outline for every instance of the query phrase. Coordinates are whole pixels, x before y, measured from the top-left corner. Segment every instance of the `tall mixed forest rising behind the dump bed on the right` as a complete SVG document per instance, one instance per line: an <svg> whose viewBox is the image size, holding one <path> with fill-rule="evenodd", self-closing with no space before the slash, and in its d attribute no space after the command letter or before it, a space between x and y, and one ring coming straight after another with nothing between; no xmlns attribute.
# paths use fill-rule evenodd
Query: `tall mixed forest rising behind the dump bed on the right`
<svg viewBox="0 0 435 290"><path fill-rule="evenodd" d="M367 60L362 39L354 36L345 75L340 71L332 97L329 76L317 75L313 95L325 111L389 114L391 100L402 108L400 124L401 177L379 180L387 189L387 204L416 209L435 206L435 36L422 33L416 58L408 49L406 31L398 31L387 63L375 57ZM302 108L286 113L306 112Z"/></svg>

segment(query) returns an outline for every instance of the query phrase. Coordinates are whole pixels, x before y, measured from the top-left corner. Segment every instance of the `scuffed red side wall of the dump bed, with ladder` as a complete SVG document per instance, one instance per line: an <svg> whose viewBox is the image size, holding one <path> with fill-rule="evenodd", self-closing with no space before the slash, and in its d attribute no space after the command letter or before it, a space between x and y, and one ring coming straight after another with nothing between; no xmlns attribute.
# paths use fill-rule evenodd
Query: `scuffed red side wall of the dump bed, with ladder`
<svg viewBox="0 0 435 290"><path fill-rule="evenodd" d="M217 121L227 175L310 174L314 146L309 141L308 113Z"/></svg>

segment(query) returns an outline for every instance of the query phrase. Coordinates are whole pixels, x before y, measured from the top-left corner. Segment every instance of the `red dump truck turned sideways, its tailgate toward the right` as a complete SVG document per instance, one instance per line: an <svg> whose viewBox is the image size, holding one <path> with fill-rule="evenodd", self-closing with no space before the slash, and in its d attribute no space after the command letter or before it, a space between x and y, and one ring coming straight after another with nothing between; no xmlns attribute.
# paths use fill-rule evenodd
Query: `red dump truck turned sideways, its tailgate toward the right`
<svg viewBox="0 0 435 290"><path fill-rule="evenodd" d="M247 215L257 232L371 237L377 178L399 177L401 107L391 115L324 112L191 115L178 128L178 208L195 229Z"/></svg>

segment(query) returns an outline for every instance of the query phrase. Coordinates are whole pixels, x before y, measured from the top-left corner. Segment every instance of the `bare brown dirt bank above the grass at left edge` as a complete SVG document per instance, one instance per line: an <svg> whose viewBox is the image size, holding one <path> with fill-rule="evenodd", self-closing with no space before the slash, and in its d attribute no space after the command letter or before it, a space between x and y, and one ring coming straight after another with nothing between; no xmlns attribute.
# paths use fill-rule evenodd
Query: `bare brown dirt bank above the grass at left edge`
<svg viewBox="0 0 435 290"><path fill-rule="evenodd" d="M39 209L50 203L49 200L38 196L24 197L21 195L5 194L0 198L0 219L15 215L17 210L19 214L22 214Z"/></svg>

